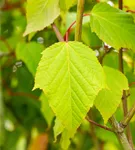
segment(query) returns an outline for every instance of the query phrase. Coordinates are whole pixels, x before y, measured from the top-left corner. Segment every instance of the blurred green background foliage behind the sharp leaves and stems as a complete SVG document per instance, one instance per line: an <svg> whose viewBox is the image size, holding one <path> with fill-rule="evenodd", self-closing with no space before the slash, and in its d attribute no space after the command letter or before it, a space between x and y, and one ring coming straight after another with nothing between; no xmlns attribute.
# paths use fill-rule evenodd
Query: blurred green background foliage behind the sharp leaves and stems
<svg viewBox="0 0 135 150"><path fill-rule="evenodd" d="M102 1L118 7L117 0ZM86 0L85 13L89 13L96 3L95 0ZM124 6L125 11L135 10L135 1L124 0ZM25 0L0 0L0 150L59 150L60 144L55 143L53 138L55 117L46 97L40 90L32 91L41 52L58 40L51 26L23 37L26 27L25 8ZM55 24L63 36L75 19L76 5L61 11ZM103 57L104 43L91 32L88 21L89 16L84 17L82 41L95 50L99 59L103 58L103 64L118 68L117 51L112 50ZM74 27L69 38L74 39ZM134 53L124 53L124 70L129 83L135 81L134 61ZM130 87L130 95L129 106L135 101L135 86ZM91 113L93 120L103 124L95 108ZM116 118L120 121L122 117L120 106ZM131 130L135 142L134 118ZM69 149L97 150L97 142L100 150L121 150L113 133L89 124L86 120L78 129Z"/></svg>

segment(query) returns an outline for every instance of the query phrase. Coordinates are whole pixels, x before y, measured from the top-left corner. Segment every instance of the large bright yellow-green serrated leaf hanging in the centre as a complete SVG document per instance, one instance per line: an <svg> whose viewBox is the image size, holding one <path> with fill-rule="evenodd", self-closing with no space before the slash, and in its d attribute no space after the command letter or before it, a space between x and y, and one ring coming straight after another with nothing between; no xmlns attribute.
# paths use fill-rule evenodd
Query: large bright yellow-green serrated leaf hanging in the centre
<svg viewBox="0 0 135 150"><path fill-rule="evenodd" d="M43 52L35 88L45 92L65 129L79 127L104 87L103 69L89 47L75 41L59 42Z"/></svg>

